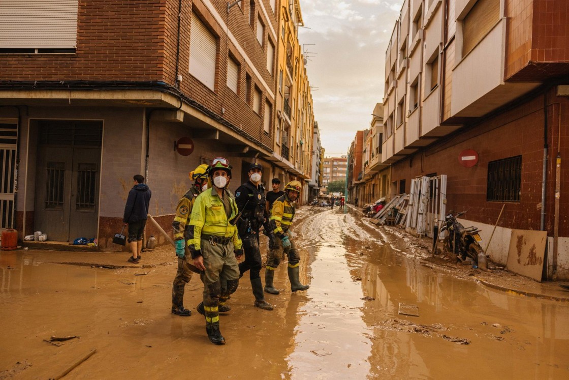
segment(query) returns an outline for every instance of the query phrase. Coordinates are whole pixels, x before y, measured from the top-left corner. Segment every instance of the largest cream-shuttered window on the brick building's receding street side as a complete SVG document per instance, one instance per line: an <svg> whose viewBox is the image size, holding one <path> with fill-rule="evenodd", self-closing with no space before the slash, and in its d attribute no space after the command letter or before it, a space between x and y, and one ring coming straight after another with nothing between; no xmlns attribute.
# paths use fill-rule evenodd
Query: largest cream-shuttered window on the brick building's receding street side
<svg viewBox="0 0 569 380"><path fill-rule="evenodd" d="M217 40L204 23L192 13L189 36L189 73L213 91L215 86L215 67Z"/></svg>

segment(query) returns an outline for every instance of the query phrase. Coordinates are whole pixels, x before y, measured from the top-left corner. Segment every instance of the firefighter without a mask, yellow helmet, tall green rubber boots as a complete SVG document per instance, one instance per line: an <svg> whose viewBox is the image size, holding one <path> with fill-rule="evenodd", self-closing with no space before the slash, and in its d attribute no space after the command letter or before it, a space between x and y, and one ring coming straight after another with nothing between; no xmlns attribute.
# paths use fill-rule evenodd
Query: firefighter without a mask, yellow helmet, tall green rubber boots
<svg viewBox="0 0 569 380"><path fill-rule="evenodd" d="M290 181L284 186L284 195L277 198L273 203L270 226L277 239L274 239L273 245L269 247L269 258L267 258L265 271L265 292L267 293L279 293L279 291L273 287L273 279L275 269L277 269L281 263L283 251L288 256L288 280L290 280L291 291L304 291L310 288L309 285L300 283L300 256L294 246L294 242L290 240L290 233L288 233L288 228L290 228L292 219L294 219L295 201L298 199L301 189L300 182Z"/></svg>

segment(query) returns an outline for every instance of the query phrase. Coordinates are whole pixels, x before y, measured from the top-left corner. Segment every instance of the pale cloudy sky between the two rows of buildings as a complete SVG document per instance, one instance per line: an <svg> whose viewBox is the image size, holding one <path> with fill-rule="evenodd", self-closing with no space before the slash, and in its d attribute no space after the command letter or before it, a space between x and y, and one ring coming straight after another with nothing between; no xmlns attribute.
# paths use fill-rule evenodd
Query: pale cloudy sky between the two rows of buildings
<svg viewBox="0 0 569 380"><path fill-rule="evenodd" d="M307 28L299 28L299 40L327 157L348 154L356 131L369 128L384 96L385 50L402 3L300 0Z"/></svg>

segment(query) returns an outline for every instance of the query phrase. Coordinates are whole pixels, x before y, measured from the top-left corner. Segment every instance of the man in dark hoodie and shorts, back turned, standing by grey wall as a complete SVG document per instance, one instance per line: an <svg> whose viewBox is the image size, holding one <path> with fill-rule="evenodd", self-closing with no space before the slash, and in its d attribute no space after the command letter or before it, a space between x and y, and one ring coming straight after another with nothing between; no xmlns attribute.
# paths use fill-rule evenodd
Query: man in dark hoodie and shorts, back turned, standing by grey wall
<svg viewBox="0 0 569 380"><path fill-rule="evenodd" d="M129 197L126 199L125 216L123 223L129 225L129 244L133 255L130 256L131 263L138 263L142 251L142 233L146 226L146 218L148 215L148 206L150 205L150 197L152 191L146 183L144 177L137 174L133 177L134 186L129 191Z"/></svg>

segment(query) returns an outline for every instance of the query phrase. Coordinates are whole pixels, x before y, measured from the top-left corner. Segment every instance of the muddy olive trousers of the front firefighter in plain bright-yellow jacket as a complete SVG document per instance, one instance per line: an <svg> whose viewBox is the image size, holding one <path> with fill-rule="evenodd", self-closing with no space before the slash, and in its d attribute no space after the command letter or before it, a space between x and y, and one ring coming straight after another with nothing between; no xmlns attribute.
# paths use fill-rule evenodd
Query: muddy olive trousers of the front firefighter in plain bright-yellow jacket
<svg viewBox="0 0 569 380"><path fill-rule="evenodd" d="M220 239L217 243L213 239L202 239L201 255L205 267L200 274L204 283L205 321L215 323L219 321L219 305L224 305L237 290L239 266L229 239Z"/></svg>

